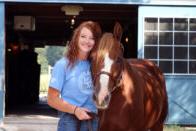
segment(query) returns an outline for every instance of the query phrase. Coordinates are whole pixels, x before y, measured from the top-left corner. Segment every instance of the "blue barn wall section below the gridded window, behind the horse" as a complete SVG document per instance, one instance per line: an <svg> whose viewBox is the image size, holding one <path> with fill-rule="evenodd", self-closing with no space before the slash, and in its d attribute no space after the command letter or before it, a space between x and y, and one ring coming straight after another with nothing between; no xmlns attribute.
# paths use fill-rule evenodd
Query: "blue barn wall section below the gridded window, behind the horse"
<svg viewBox="0 0 196 131"><path fill-rule="evenodd" d="M166 76L168 124L196 125L196 76Z"/></svg>

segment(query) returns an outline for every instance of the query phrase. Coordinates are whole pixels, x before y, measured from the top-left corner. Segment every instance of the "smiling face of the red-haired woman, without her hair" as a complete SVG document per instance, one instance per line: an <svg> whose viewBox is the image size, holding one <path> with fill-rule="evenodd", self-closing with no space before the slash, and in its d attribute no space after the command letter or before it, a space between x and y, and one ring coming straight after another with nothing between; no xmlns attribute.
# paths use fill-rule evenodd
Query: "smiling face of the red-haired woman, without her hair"
<svg viewBox="0 0 196 131"><path fill-rule="evenodd" d="M94 45L93 33L86 27L82 28L78 38L79 55L87 56Z"/></svg>

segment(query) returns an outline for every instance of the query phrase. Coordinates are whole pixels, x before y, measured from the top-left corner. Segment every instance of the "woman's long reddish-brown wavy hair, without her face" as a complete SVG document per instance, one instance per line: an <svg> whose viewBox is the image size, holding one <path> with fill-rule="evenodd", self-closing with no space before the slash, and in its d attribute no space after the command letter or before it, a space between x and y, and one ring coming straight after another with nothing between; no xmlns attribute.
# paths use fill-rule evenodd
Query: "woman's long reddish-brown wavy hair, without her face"
<svg viewBox="0 0 196 131"><path fill-rule="evenodd" d="M79 41L80 32L84 27L89 29L93 33L93 37L95 40L95 46L101 37L101 33L102 33L101 27L97 22L85 21L85 22L81 23L74 30L72 39L68 45L68 52L67 52L66 56L69 60L69 66L71 66L71 67L74 66L75 62L78 59L78 54L79 54L78 41Z"/></svg>

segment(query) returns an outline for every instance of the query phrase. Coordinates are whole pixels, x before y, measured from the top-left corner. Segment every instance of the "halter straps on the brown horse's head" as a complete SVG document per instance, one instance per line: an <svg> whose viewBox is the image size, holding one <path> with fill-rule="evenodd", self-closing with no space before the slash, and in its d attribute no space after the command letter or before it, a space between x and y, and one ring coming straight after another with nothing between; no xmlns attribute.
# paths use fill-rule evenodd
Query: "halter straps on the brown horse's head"
<svg viewBox="0 0 196 131"><path fill-rule="evenodd" d="M122 62L122 58L118 57L116 62ZM118 87L120 87L120 81L122 79L122 71L123 71L123 64L121 63L121 69L120 69L120 74L118 75L117 79L115 79L111 73L107 72L107 71L100 71L99 73L96 74L95 79L94 79L94 83L96 83L97 78L104 74L107 75L109 78L111 78L111 80L114 82L114 87L110 90L110 93L114 92Z"/></svg>

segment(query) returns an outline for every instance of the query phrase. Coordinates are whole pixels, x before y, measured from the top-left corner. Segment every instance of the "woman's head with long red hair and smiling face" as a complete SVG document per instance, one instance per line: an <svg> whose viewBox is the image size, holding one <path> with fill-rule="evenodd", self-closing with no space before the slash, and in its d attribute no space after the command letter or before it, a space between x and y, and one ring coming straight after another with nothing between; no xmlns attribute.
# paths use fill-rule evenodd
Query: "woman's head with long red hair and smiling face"
<svg viewBox="0 0 196 131"><path fill-rule="evenodd" d="M66 52L70 67L73 67L78 59L90 59L90 52L95 48L101 34L100 25L93 21L84 21L73 31Z"/></svg>

